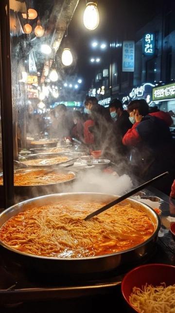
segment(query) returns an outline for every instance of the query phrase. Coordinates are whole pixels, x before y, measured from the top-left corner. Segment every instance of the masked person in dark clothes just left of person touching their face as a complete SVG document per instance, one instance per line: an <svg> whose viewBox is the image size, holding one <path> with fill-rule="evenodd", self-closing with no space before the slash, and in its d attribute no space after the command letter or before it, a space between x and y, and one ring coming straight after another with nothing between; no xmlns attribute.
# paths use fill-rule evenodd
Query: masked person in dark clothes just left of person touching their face
<svg viewBox="0 0 175 313"><path fill-rule="evenodd" d="M123 145L124 134L132 127L129 114L123 110L123 104L119 99L113 99L109 104L110 116L113 120L112 145L116 149L116 158L127 158L129 149Z"/></svg>

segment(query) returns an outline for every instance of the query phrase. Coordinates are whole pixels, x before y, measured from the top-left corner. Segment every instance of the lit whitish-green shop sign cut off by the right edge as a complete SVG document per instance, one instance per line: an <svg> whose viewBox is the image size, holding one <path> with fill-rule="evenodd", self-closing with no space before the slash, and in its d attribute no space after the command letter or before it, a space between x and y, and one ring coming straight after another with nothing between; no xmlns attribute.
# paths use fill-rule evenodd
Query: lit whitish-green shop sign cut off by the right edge
<svg viewBox="0 0 175 313"><path fill-rule="evenodd" d="M175 83L153 88L153 101L175 99Z"/></svg>

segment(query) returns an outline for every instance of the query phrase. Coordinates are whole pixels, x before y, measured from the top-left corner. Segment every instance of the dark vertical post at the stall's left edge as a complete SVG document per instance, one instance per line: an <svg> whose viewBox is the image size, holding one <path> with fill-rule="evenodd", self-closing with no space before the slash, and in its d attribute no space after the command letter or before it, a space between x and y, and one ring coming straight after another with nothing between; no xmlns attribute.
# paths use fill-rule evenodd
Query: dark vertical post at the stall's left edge
<svg viewBox="0 0 175 313"><path fill-rule="evenodd" d="M0 2L0 110L4 208L14 204L12 84L9 0Z"/></svg>

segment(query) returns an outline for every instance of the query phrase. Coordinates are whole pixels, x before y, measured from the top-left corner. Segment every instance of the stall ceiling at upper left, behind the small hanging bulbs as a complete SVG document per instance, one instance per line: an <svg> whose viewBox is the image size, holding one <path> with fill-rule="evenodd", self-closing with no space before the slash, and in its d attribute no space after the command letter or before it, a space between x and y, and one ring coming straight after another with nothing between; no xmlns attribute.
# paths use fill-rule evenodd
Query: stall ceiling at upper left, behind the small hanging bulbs
<svg viewBox="0 0 175 313"><path fill-rule="evenodd" d="M10 0L10 26L11 36L15 42L14 48L16 47L16 50L20 52L19 46L21 47L21 57L25 62L29 58L30 52L33 52L36 70L41 73L41 83L45 81L48 66L52 66L55 54L59 49L78 2L79 0ZM22 13L26 13L28 8L34 8L37 11L38 17L35 20L27 21L22 18ZM45 29L41 38L36 37L34 32L38 18ZM24 34L25 23L31 24L33 28L31 34ZM40 46L42 43L47 43L53 48L50 57L41 55Z"/></svg>

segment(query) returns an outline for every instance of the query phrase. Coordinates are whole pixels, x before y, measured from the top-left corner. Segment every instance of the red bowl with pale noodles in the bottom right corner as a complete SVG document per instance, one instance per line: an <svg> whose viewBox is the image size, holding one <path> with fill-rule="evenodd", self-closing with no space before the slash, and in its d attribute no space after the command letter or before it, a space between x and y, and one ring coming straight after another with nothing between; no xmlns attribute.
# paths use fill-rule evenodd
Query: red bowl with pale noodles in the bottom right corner
<svg viewBox="0 0 175 313"><path fill-rule="evenodd" d="M122 293L133 312L175 313L175 266L147 264L127 273Z"/></svg>

